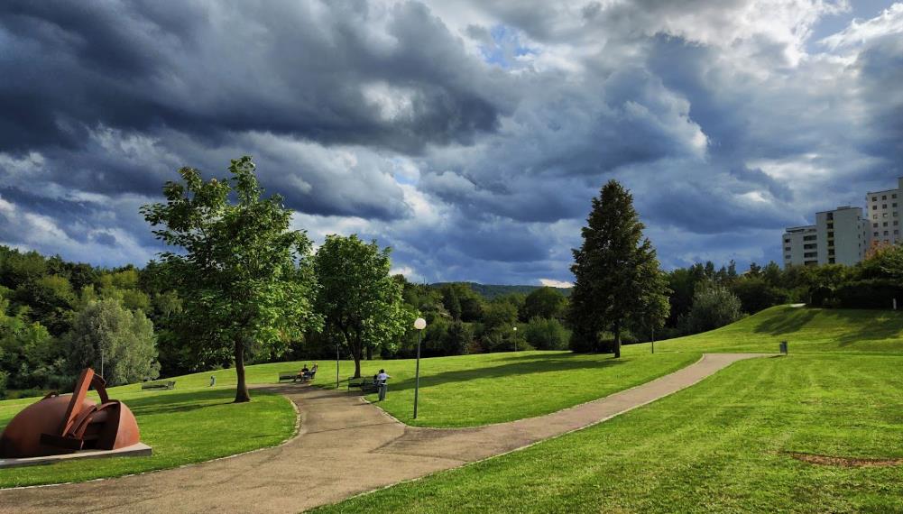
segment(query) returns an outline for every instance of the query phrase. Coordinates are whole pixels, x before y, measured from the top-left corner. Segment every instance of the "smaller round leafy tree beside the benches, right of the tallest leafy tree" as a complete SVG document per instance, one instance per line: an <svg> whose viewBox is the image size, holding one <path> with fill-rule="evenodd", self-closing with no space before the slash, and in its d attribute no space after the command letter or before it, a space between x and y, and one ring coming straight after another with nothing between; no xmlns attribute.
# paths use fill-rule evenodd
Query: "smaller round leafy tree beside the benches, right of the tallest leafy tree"
<svg viewBox="0 0 903 514"><path fill-rule="evenodd" d="M348 345L355 378L365 349L394 350L414 322L414 313L402 302L404 285L389 275L390 251L354 235L331 235L313 259L321 286L317 312Z"/></svg>

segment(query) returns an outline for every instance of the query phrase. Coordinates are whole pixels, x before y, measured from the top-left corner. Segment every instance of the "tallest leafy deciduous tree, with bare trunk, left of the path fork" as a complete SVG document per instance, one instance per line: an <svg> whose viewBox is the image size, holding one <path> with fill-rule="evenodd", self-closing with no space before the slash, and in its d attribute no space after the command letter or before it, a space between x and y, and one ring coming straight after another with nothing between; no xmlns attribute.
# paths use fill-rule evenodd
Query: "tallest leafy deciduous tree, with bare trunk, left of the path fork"
<svg viewBox="0 0 903 514"><path fill-rule="evenodd" d="M238 378L236 402L250 400L246 355L280 353L305 331L321 328L312 298L311 240L291 229L282 197L264 198L251 158L232 161L231 176L203 181L193 168L182 182L166 182L166 203L142 208L154 235L182 248L162 254L179 289L182 314L196 344L231 351ZM235 200L235 202L232 201Z"/></svg>

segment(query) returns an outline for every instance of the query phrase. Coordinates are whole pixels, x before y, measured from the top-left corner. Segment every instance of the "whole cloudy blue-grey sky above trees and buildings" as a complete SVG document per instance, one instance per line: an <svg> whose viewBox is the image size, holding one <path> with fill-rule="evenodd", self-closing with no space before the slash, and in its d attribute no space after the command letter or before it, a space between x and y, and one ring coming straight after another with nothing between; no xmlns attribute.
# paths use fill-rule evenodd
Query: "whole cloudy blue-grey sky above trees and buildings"
<svg viewBox="0 0 903 514"><path fill-rule="evenodd" d="M610 179L669 269L903 176L903 3L5 0L0 77L0 244L100 266L243 154L417 282L567 284Z"/></svg>

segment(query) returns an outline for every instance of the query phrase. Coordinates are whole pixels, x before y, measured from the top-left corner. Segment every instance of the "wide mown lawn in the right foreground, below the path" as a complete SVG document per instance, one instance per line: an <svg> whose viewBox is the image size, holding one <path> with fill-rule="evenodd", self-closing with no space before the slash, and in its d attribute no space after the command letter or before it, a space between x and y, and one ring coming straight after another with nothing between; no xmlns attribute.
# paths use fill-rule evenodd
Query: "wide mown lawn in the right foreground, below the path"
<svg viewBox="0 0 903 514"><path fill-rule="evenodd" d="M609 422L320 511L903 511L903 466L790 454L903 457L901 369L899 356L744 360Z"/></svg>

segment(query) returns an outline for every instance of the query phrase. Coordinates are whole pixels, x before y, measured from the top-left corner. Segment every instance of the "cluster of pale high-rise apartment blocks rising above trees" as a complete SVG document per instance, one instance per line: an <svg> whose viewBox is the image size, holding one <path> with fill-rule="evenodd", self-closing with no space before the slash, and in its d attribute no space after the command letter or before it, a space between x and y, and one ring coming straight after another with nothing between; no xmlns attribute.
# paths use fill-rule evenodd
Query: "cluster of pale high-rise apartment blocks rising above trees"
<svg viewBox="0 0 903 514"><path fill-rule="evenodd" d="M865 211L844 206L816 212L815 225L784 230L784 266L852 266L865 258L869 248L903 243L901 205L903 177L897 189L866 194Z"/></svg>

